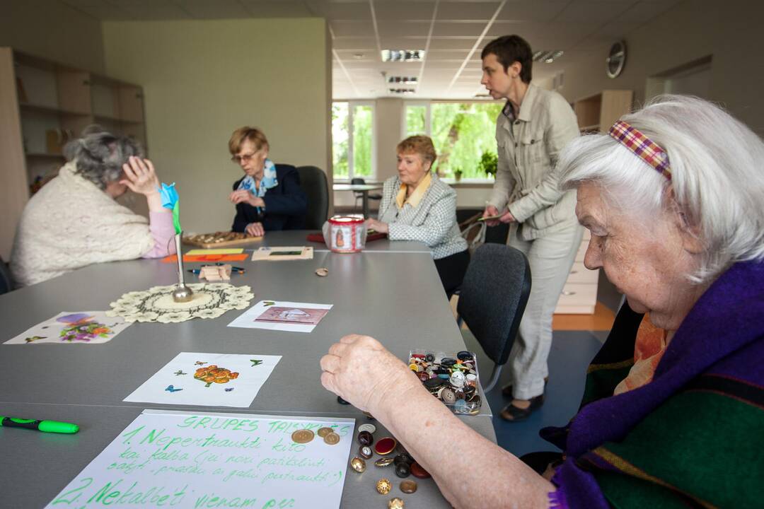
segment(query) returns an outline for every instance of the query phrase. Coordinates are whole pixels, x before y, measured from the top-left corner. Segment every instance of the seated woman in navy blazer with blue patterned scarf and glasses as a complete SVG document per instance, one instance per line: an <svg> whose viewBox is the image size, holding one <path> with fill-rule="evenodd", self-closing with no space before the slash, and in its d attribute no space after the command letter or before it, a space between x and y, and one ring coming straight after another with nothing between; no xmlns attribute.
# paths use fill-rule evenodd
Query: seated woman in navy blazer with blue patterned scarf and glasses
<svg viewBox="0 0 764 509"><path fill-rule="evenodd" d="M305 225L308 201L299 173L268 159L268 140L257 127L240 127L228 140L231 161L244 170L228 196L236 205L233 231L261 237L267 230L299 230Z"/></svg>

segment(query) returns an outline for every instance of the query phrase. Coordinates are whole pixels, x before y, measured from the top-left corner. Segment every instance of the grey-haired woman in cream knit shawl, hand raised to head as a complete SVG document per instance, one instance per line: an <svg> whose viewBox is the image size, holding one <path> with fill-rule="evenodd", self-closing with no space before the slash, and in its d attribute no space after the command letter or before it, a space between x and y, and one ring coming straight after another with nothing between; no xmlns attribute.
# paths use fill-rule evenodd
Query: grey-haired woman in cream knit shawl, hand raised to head
<svg viewBox="0 0 764 509"><path fill-rule="evenodd" d="M21 214L11 253L17 285L33 285L91 263L175 252L172 213L162 207L154 165L134 140L95 127L64 147L66 163ZM150 219L115 198L144 195Z"/></svg>

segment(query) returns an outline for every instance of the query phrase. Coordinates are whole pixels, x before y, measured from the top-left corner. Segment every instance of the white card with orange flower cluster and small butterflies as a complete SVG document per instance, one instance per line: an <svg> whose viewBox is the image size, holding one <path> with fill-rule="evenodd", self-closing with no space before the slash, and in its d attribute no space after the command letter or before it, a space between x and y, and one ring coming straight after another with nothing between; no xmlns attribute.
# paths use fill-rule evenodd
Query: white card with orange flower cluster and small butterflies
<svg viewBox="0 0 764 509"><path fill-rule="evenodd" d="M246 408L280 359L181 352L123 401Z"/></svg>

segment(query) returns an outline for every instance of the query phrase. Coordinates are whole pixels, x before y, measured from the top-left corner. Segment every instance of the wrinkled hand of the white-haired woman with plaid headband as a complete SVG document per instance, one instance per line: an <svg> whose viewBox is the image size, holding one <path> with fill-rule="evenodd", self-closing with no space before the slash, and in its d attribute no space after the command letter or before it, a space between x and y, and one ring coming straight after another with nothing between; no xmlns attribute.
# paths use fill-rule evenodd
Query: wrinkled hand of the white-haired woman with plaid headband
<svg viewBox="0 0 764 509"><path fill-rule="evenodd" d="M322 385L372 414L384 401L394 401L409 390L423 390L422 382L400 359L373 337L350 334L329 347L321 358Z"/></svg>

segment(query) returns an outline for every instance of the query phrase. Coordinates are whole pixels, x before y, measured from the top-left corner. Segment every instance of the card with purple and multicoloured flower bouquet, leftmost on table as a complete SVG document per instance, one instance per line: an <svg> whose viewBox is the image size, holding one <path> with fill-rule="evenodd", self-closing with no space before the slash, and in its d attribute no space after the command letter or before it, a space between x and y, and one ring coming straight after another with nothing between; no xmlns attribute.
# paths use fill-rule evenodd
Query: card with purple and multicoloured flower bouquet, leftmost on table
<svg viewBox="0 0 764 509"><path fill-rule="evenodd" d="M111 341L130 326L121 317L107 317L105 311L63 311L5 342L7 345L37 343L92 344Z"/></svg>

